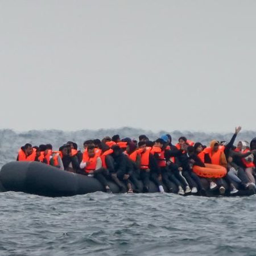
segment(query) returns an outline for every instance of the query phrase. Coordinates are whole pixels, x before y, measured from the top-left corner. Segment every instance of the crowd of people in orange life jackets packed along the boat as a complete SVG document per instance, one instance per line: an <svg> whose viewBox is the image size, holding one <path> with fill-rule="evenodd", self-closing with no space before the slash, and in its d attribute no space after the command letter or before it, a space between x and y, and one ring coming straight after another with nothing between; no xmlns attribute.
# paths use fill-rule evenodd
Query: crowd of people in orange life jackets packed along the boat
<svg viewBox="0 0 256 256"><path fill-rule="evenodd" d="M127 193L141 192L139 180L143 183L142 192L147 193L151 180L159 192L164 192L164 185L168 192L173 192L172 184L175 184L179 195L205 195L201 179L193 167L216 164L226 168L226 175L207 178L209 188L218 190L222 195L226 192L225 180L230 194L235 194L238 189L255 188L256 138L250 143L239 141L234 146L240 131L241 127L236 127L229 142L214 140L208 147L185 137L180 137L174 145L170 134L164 134L155 141L150 141L146 135L140 135L138 141L121 139L119 135L87 140L83 152L71 141L58 151L53 151L51 144L32 146L26 143L20 148L17 160L42 162L63 171L95 177L110 193L110 180L118 185L121 192Z"/></svg>

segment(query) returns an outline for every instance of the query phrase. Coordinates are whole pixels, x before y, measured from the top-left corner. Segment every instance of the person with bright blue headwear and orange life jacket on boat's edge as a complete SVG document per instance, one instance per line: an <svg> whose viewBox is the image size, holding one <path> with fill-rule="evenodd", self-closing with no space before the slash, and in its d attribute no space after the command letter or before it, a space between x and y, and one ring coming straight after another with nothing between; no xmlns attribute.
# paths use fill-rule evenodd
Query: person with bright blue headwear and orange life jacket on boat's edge
<svg viewBox="0 0 256 256"><path fill-rule="evenodd" d="M182 154L181 150L167 150L166 146L168 144L168 137L163 135L161 138L156 139L155 146L160 148L160 152L154 154L156 160L158 161L158 167L160 169L161 175L159 177L160 180L163 180L163 183L166 184L168 191L172 192L172 182L174 182L179 188L178 194L184 195L184 190L181 186L180 181L175 177L172 172L170 166L168 166L167 161L172 156L177 156Z"/></svg>

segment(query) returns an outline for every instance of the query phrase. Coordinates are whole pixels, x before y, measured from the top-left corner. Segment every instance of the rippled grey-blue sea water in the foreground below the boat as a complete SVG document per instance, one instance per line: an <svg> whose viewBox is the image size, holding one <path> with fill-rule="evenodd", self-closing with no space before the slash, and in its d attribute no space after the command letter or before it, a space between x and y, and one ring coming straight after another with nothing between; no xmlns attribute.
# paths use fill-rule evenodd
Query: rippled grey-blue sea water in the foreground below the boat
<svg viewBox="0 0 256 256"><path fill-rule="evenodd" d="M0 255L256 255L255 201L0 193Z"/></svg>

